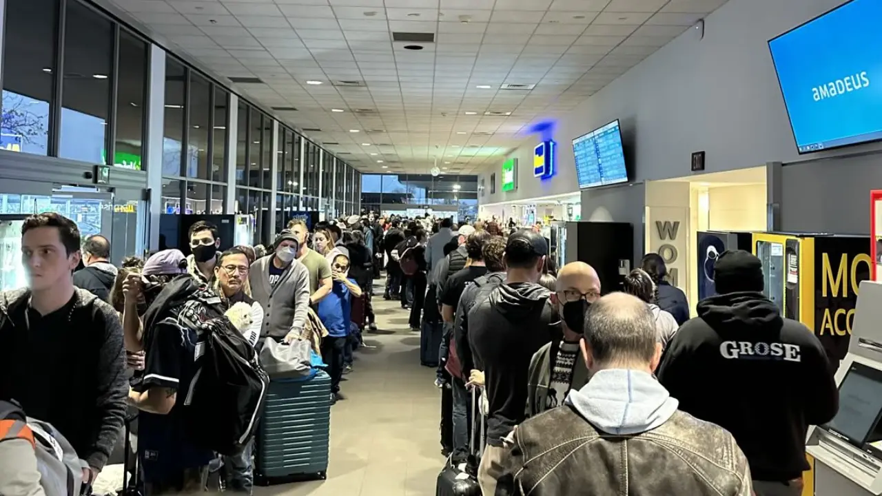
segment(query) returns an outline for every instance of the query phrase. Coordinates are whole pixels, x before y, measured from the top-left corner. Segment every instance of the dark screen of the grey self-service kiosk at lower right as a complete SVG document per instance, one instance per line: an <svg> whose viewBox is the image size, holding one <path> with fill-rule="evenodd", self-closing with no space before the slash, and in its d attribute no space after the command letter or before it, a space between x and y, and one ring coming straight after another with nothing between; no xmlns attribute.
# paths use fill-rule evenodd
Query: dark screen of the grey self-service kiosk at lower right
<svg viewBox="0 0 882 496"><path fill-rule="evenodd" d="M826 425L857 447L873 442L882 412L882 371L864 364L851 364L839 386L839 412Z"/></svg>

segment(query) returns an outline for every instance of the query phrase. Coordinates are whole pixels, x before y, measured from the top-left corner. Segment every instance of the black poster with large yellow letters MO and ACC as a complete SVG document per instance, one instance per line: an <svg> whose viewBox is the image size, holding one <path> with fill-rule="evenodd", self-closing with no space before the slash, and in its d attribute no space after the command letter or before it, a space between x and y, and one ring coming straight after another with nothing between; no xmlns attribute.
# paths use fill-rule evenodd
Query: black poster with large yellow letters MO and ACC
<svg viewBox="0 0 882 496"><path fill-rule="evenodd" d="M848 353L858 287L870 279L868 237L815 238L815 335L831 364Z"/></svg>

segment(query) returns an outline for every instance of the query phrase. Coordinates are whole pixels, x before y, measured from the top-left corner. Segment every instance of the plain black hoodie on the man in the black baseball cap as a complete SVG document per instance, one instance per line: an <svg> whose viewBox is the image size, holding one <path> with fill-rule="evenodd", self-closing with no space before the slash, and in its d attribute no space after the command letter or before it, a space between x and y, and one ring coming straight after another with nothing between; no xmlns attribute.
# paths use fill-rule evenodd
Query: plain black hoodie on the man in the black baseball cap
<svg viewBox="0 0 882 496"><path fill-rule="evenodd" d="M524 421L530 359L560 332L548 289L533 282L500 284L468 313L468 343L475 367L484 372L487 444Z"/></svg>

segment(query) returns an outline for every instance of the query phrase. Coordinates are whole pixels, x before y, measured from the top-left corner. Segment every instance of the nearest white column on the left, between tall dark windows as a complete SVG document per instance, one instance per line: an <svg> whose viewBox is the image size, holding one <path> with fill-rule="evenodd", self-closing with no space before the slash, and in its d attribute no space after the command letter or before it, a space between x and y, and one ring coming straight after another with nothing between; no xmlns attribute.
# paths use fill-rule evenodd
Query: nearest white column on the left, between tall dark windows
<svg viewBox="0 0 882 496"><path fill-rule="evenodd" d="M162 137L165 125L165 50L150 45L148 67L149 91L147 92L147 137L145 144L147 191L150 205L150 234L147 247L150 251L160 248L160 215L162 202Z"/></svg>

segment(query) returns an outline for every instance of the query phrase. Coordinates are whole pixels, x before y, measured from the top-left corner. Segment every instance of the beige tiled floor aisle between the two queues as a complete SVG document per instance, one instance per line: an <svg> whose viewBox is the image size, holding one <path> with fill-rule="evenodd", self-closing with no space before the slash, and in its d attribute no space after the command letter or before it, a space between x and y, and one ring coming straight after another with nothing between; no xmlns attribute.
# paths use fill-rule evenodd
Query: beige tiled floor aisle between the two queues
<svg viewBox="0 0 882 496"><path fill-rule="evenodd" d="M420 336L410 332L400 302L373 301L379 333L365 334L365 342L377 348L357 351L355 370L340 385L347 399L331 411L327 480L255 487L256 495L435 493L444 465L435 372L420 366Z"/></svg>

